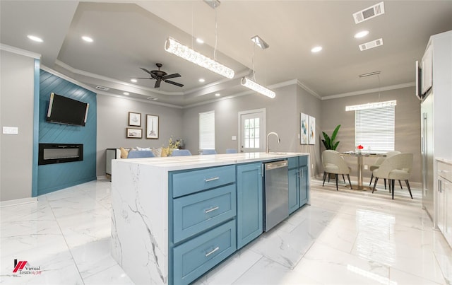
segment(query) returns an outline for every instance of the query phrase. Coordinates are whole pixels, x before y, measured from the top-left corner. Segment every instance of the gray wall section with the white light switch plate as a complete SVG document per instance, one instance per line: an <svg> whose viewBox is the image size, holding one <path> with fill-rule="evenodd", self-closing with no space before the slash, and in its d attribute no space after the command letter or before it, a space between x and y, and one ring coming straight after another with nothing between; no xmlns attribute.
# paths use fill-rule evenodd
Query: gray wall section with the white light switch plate
<svg viewBox="0 0 452 285"><path fill-rule="evenodd" d="M0 50L0 201L32 195L35 59Z"/></svg>

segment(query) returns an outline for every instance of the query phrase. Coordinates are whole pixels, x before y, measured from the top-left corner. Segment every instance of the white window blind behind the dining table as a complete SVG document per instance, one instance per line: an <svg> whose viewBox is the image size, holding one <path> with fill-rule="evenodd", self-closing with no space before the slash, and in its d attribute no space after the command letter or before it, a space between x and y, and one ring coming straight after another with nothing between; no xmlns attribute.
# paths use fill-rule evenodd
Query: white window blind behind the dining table
<svg viewBox="0 0 452 285"><path fill-rule="evenodd" d="M355 111L355 145L364 151L394 150L395 107Z"/></svg>

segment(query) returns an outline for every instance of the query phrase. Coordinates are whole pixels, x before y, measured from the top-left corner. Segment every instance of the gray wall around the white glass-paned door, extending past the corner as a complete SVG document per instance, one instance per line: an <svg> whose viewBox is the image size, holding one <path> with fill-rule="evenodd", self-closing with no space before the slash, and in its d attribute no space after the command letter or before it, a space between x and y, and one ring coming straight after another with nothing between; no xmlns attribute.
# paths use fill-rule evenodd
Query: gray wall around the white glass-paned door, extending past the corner
<svg viewBox="0 0 452 285"><path fill-rule="evenodd" d="M273 151L308 152L311 153L311 174L318 171L319 141L316 145L300 145L300 112L316 117L316 132L321 125L321 101L304 89L292 84L275 88L276 98L270 99L256 93L232 99L220 100L215 103L184 109L184 140L186 148L191 153L198 152L198 114L215 110L215 149L225 153L226 149L237 149L238 142L232 141L232 136L238 139L238 113L246 110L266 109L266 132L277 132L281 143L273 145Z"/></svg>

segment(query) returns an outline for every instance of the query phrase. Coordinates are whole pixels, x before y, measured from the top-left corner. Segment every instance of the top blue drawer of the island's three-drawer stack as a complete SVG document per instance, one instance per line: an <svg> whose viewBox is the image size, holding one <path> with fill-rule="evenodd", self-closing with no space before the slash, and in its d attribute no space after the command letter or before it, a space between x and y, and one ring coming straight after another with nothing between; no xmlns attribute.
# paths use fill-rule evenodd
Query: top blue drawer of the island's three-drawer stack
<svg viewBox="0 0 452 285"><path fill-rule="evenodd" d="M180 197L235 182L235 166L227 165L172 173L171 182L172 196Z"/></svg>

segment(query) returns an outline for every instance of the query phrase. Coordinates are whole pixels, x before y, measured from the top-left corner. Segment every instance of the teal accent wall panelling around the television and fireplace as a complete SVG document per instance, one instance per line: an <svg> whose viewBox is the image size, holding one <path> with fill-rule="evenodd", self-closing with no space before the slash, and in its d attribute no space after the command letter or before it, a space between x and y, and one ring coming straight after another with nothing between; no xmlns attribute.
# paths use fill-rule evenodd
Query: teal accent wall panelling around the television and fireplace
<svg viewBox="0 0 452 285"><path fill-rule="evenodd" d="M85 127L46 122L52 92L90 104ZM83 144L83 161L38 165L38 195L96 179L96 110L96 93L40 70L39 143Z"/></svg>

